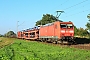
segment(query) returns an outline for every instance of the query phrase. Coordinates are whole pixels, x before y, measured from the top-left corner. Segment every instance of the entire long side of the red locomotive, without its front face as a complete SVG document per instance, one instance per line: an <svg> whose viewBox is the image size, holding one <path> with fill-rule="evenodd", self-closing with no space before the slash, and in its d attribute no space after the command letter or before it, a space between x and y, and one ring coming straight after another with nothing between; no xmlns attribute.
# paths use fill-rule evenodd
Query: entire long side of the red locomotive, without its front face
<svg viewBox="0 0 90 60"><path fill-rule="evenodd" d="M57 41L60 39L60 22L57 21L50 25L40 27L39 33L39 38L44 41Z"/></svg>

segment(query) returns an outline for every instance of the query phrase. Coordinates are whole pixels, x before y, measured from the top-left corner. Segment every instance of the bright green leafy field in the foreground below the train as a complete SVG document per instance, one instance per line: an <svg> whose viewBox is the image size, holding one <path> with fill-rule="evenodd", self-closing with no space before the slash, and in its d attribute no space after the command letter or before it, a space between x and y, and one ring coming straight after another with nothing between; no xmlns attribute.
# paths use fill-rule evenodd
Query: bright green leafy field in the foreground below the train
<svg viewBox="0 0 90 60"><path fill-rule="evenodd" d="M90 60L90 51L17 39L0 49L0 60Z"/></svg>

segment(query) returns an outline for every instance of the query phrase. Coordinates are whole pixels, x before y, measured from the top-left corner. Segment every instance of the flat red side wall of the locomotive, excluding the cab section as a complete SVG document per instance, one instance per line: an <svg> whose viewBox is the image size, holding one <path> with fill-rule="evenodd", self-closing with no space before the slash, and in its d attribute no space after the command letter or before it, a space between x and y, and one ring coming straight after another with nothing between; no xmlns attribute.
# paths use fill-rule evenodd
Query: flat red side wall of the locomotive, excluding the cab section
<svg viewBox="0 0 90 60"><path fill-rule="evenodd" d="M40 27L39 37L40 38L54 38L55 37L54 29L55 29L54 24Z"/></svg>

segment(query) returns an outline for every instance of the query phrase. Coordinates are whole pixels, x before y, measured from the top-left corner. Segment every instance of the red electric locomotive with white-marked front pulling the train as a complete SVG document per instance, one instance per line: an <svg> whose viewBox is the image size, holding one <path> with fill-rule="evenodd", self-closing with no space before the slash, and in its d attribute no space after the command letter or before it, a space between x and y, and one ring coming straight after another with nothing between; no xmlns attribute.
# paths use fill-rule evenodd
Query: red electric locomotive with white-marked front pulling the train
<svg viewBox="0 0 90 60"><path fill-rule="evenodd" d="M74 25L72 22L60 22L46 24L40 27L39 38L50 42L74 42Z"/></svg>

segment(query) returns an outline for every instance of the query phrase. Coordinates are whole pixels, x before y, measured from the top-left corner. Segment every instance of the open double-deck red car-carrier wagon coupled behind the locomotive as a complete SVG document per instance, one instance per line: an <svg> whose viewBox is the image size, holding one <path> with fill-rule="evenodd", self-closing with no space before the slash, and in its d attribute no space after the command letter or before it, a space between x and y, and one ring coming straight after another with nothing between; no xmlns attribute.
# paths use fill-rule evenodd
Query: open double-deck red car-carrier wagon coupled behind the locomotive
<svg viewBox="0 0 90 60"><path fill-rule="evenodd" d="M18 31L19 39L37 40L39 39L39 29L37 27L29 28L23 31Z"/></svg>

